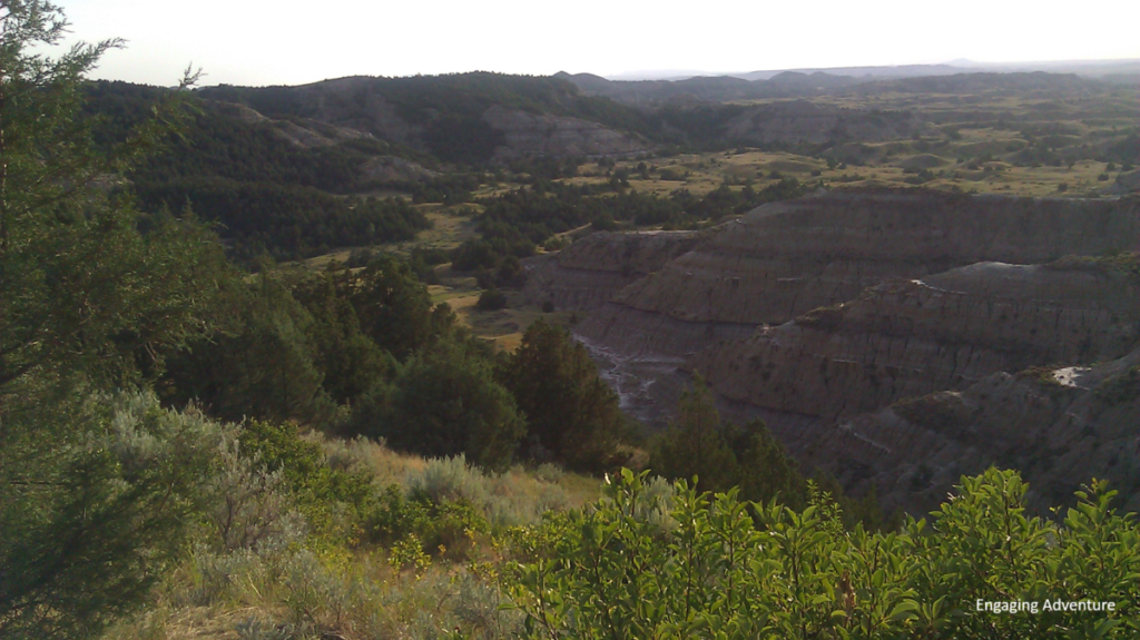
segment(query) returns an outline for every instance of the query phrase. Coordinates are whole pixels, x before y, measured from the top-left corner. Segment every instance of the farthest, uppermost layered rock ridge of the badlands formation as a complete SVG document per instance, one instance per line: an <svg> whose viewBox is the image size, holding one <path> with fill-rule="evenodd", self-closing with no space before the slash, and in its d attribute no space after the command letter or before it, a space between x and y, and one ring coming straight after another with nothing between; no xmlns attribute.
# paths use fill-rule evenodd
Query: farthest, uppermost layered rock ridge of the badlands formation
<svg viewBox="0 0 1140 640"><path fill-rule="evenodd" d="M715 337L723 325L780 325L890 278L1131 249L1140 237L1138 203L890 191L774 203L621 290L577 333L619 352L683 355L708 343L673 343L658 335L663 321L656 315L701 325L694 330Z"/></svg>

